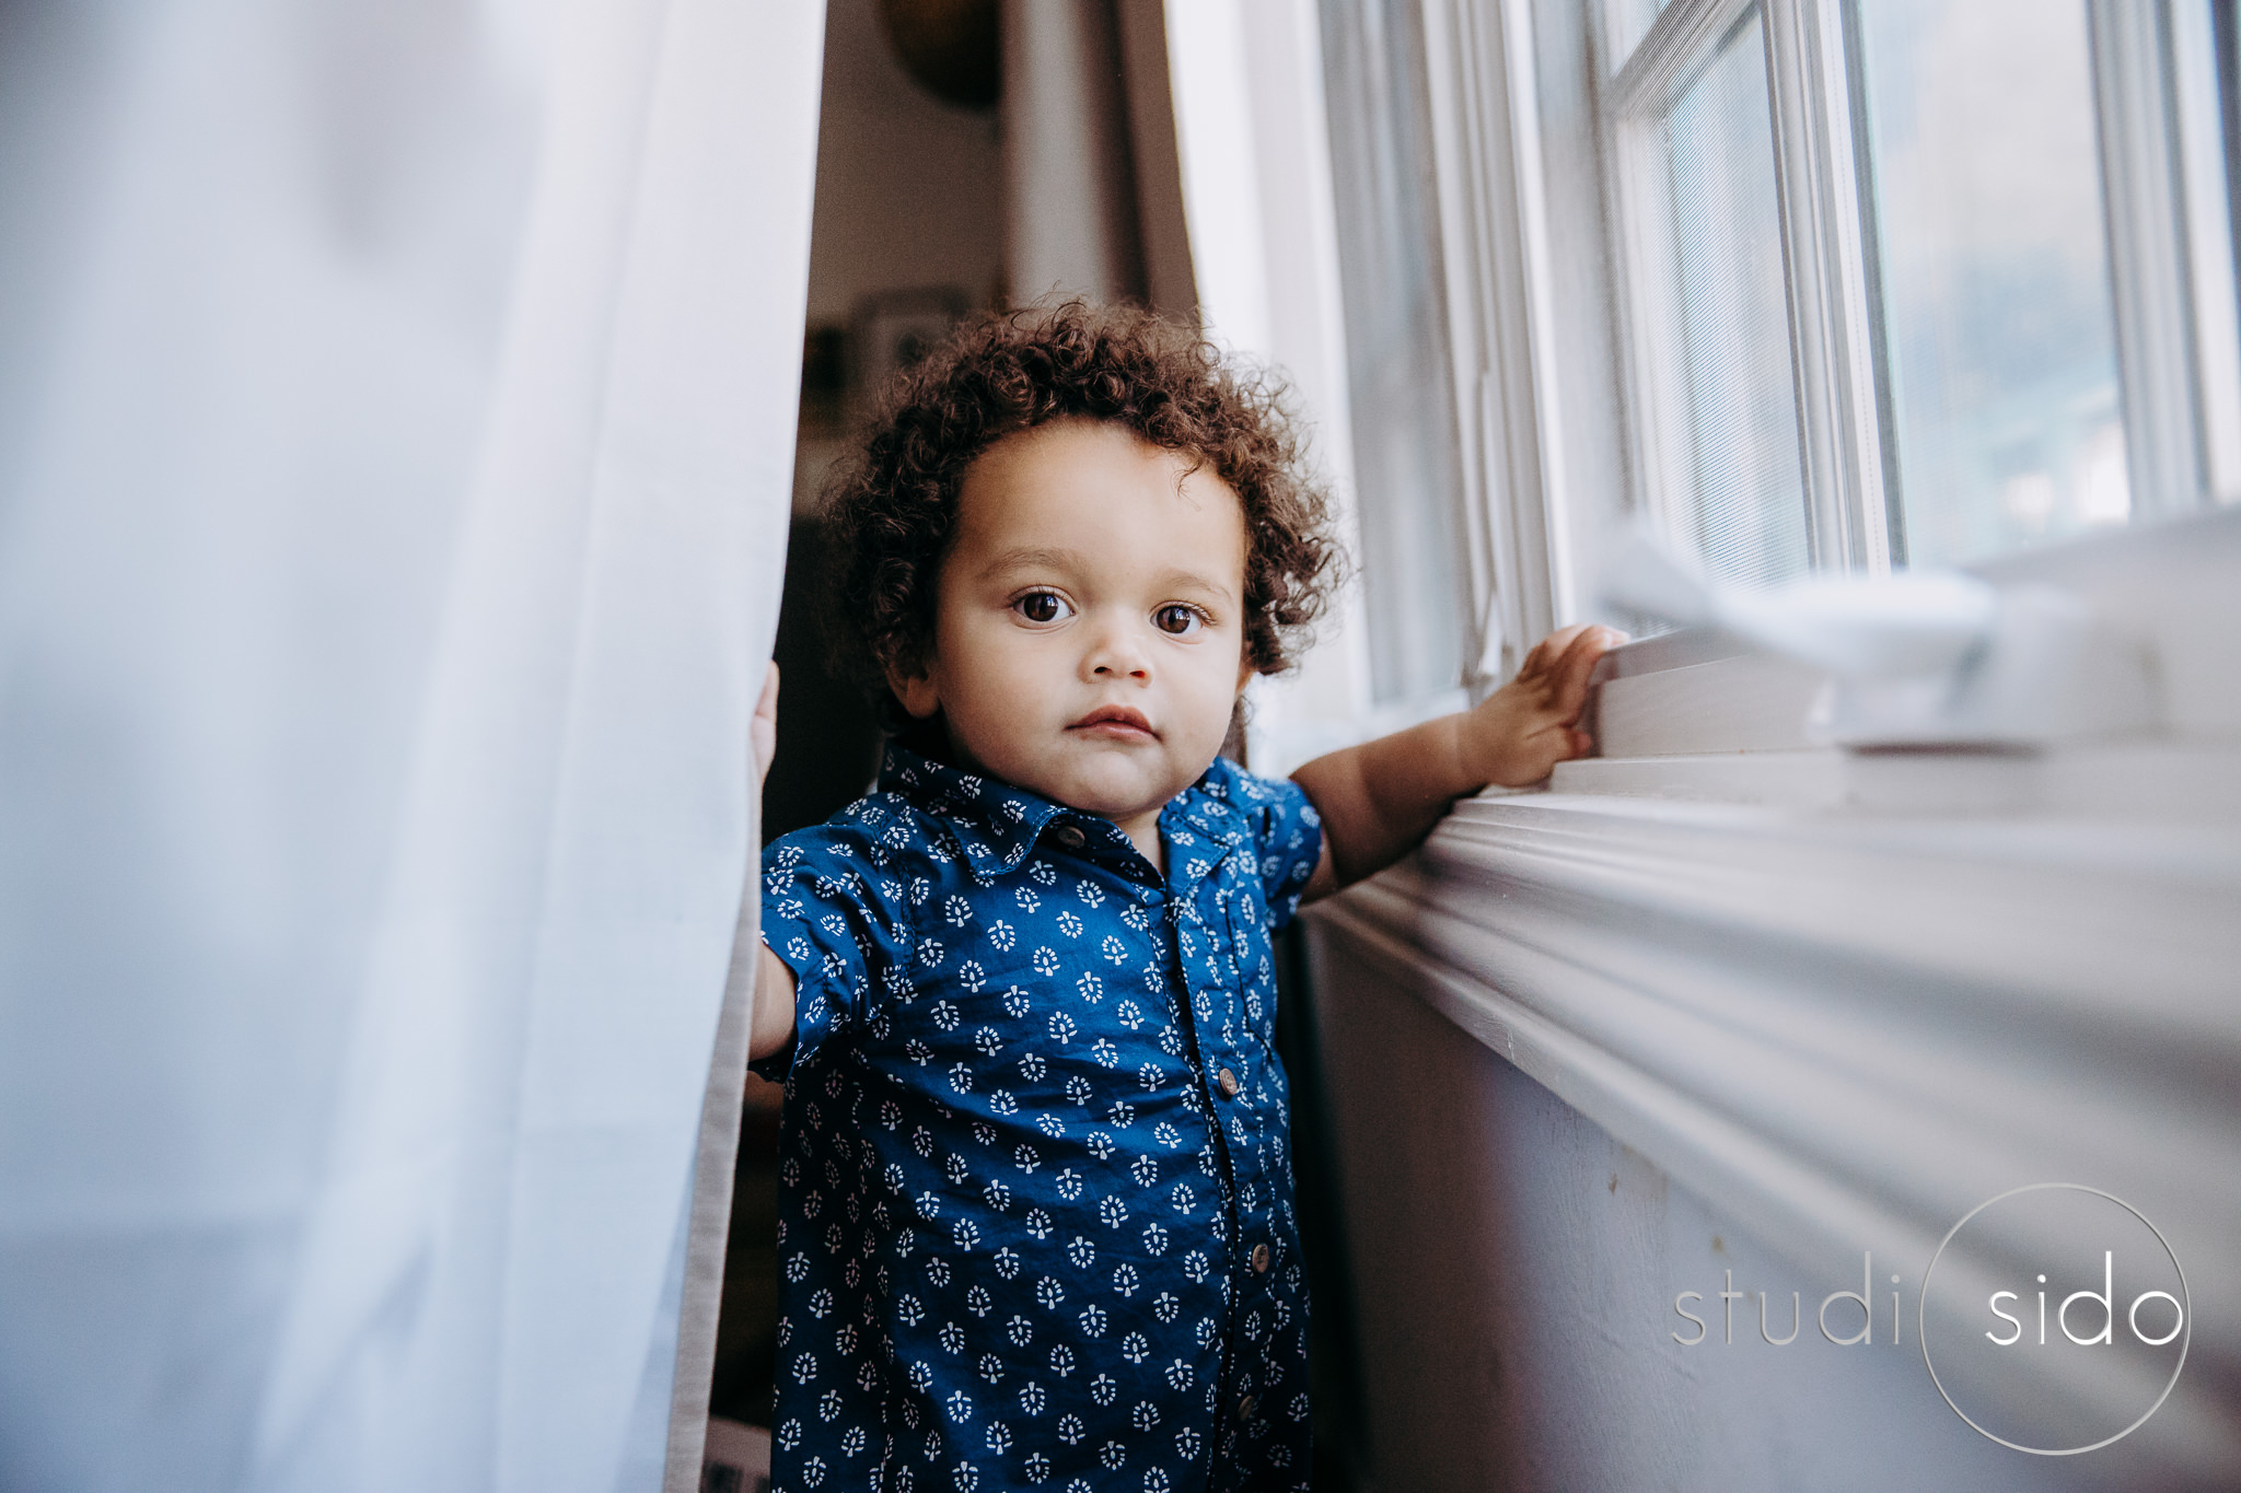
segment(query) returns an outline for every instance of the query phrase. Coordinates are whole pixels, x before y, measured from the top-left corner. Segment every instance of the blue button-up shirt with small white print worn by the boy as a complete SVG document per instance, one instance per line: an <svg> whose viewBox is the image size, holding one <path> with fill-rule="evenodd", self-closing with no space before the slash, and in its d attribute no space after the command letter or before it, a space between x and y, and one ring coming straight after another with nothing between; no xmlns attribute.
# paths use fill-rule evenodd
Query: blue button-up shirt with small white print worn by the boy
<svg viewBox="0 0 2241 1493"><path fill-rule="evenodd" d="M773 1486L1307 1489L1268 936L1322 848L1228 761L1109 819L890 748L764 853L793 969Z"/></svg>

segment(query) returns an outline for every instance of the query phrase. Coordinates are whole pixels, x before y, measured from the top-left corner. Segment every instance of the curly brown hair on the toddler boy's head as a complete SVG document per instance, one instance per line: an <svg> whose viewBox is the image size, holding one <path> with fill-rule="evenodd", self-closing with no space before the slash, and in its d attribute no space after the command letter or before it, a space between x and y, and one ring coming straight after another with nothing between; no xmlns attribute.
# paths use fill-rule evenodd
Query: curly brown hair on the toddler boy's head
<svg viewBox="0 0 2241 1493"><path fill-rule="evenodd" d="M982 313L885 392L825 486L834 663L874 692L934 631L966 468L1020 430L1087 416L1210 468L1246 517L1246 658L1280 674L1309 642L1345 560L1289 394L1197 329L1138 307Z"/></svg>

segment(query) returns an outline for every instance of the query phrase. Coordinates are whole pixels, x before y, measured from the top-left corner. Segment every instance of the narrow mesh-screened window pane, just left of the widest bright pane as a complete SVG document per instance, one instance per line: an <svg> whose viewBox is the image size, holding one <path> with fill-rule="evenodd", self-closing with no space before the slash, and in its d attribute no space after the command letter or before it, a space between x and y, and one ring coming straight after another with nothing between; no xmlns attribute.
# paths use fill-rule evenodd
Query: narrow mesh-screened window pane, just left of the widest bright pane
<svg viewBox="0 0 2241 1493"><path fill-rule="evenodd" d="M1661 145L1672 244L1670 291L1656 298L1665 331L1649 354L1654 490L1667 528L1714 573L1784 580L1811 551L1757 9L1674 103Z"/></svg>

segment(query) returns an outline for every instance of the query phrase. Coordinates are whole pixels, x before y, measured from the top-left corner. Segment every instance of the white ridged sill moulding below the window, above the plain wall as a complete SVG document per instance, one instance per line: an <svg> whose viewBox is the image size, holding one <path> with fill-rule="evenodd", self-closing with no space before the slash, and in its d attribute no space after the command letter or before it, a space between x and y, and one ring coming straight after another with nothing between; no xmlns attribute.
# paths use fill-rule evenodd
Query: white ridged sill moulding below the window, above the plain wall
<svg viewBox="0 0 2241 1493"><path fill-rule="evenodd" d="M2124 752L2178 754L2100 748L2077 777L2176 781ZM2010 1186L2118 1191L2196 1292L2207 1363L2160 1415L2187 1459L2234 1466L2241 1408L2212 1386L2241 1368L2241 1193L2205 1186L2241 1155L2234 817L1853 813L1831 786L1880 763L1838 752L1743 754L1797 801L1735 801L1712 792L1735 761L1582 761L1566 792L1470 799L1307 913L1315 963L1419 994L1802 1269L1873 1249L1918 1276ZM2068 772L1907 766L2019 772L2042 806ZM2232 757L2196 768L2230 806Z"/></svg>

